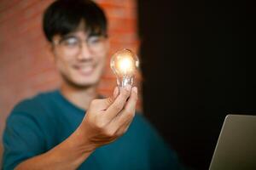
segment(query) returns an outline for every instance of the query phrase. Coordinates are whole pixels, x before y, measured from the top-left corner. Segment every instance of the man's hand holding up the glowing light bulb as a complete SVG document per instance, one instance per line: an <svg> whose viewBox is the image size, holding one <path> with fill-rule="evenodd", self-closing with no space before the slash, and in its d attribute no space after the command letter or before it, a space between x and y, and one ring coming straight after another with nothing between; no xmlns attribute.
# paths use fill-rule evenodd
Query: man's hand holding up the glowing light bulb
<svg viewBox="0 0 256 170"><path fill-rule="evenodd" d="M135 115L136 103L137 88L131 86L115 89L113 98L93 100L83 121L84 129L90 132L90 141L98 145L108 144L124 134ZM105 111L99 111L102 105L107 107Z"/></svg>

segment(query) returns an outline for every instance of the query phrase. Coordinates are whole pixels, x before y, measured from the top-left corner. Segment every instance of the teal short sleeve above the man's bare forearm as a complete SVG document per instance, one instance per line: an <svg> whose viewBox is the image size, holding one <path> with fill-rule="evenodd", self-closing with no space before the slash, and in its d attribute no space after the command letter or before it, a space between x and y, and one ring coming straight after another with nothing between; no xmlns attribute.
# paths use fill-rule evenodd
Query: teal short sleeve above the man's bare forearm
<svg viewBox="0 0 256 170"><path fill-rule="evenodd" d="M13 111L3 132L3 169L14 169L21 161L44 153L44 143L36 117Z"/></svg>

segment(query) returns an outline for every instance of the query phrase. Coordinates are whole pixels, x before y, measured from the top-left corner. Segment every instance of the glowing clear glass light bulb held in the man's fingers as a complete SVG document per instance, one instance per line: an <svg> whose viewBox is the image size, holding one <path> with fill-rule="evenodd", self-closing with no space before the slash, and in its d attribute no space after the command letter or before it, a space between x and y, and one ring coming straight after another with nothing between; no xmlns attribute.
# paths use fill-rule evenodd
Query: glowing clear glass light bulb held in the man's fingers
<svg viewBox="0 0 256 170"><path fill-rule="evenodd" d="M110 67L117 77L117 84L120 88L124 88L127 84L132 85L138 66L137 55L130 49L117 51L110 61Z"/></svg>

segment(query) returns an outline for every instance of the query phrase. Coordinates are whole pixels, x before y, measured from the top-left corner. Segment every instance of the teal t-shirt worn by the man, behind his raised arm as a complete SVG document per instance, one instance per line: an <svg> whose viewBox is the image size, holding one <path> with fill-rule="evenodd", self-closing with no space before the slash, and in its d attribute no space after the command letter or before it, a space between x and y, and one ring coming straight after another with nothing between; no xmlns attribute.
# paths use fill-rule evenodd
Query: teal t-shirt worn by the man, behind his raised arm
<svg viewBox="0 0 256 170"><path fill-rule="evenodd" d="M84 114L59 90L20 102L9 115L3 133L3 169L14 169L21 161L60 144L75 131ZM84 170L180 168L176 154L140 114L136 114L123 136L96 149L79 167Z"/></svg>

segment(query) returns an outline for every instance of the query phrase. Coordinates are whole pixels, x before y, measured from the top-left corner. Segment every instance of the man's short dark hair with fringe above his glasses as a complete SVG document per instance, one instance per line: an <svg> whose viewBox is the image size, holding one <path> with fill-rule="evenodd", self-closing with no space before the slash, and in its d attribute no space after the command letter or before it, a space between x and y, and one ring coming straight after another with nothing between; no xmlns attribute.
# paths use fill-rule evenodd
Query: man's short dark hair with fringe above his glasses
<svg viewBox="0 0 256 170"><path fill-rule="evenodd" d="M102 8L90 0L57 0L44 12L44 34L49 42L59 34L75 31L84 21L85 32L107 36L108 22Z"/></svg>

